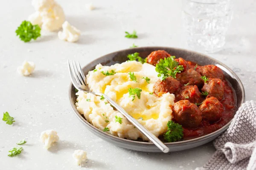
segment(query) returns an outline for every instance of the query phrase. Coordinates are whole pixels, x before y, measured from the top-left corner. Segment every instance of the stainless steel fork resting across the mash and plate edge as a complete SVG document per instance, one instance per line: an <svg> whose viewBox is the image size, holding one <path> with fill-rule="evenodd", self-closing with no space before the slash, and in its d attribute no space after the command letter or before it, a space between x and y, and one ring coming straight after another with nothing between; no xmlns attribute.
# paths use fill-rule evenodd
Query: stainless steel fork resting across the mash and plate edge
<svg viewBox="0 0 256 170"><path fill-rule="evenodd" d="M89 88L86 84L86 78L84 76L84 72L81 69L81 66L79 62L75 62L72 60L67 60L69 72L70 72L70 78L74 85L74 87L80 91L83 91L85 93L91 93L96 96L104 96L105 99L108 100L108 102L116 108L117 111L122 113L123 116L126 117L135 127L137 127L145 136L148 137L160 150L162 150L164 153L169 152L169 148L162 142L160 139L158 139L154 134L152 134L150 131L148 131L143 125L141 125L136 119L134 119L131 115L129 115L122 107L120 107L116 102L114 102L110 97L103 93L96 93L89 91Z"/></svg>

